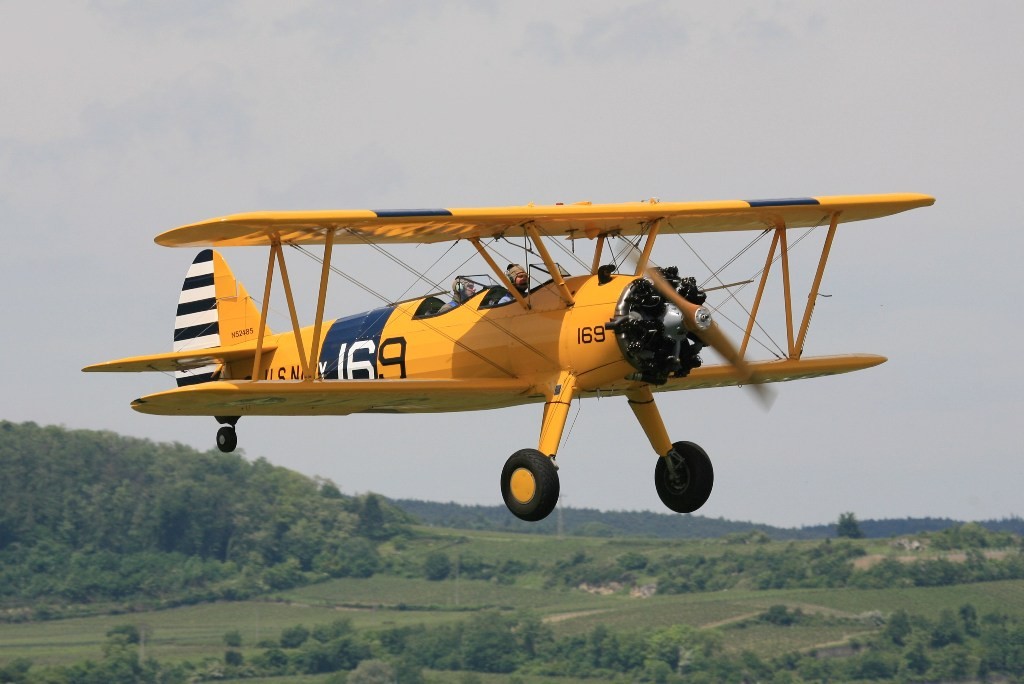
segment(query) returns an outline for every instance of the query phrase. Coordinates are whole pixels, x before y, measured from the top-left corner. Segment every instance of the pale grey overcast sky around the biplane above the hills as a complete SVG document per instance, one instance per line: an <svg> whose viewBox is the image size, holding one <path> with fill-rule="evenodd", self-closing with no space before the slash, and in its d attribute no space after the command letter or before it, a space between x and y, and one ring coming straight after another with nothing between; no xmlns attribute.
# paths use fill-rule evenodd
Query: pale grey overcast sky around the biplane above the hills
<svg viewBox="0 0 1024 684"><path fill-rule="evenodd" d="M0 419L213 447L213 419L129 409L171 379L81 373L170 349L195 255L153 239L212 216L924 193L933 207L841 226L808 336L808 355L887 364L776 385L767 413L736 388L658 405L673 439L714 461L702 515L1024 514L1021 3L0 0ZM804 277L814 239L794 248ZM466 259L484 271L471 247L446 248L396 254L424 269L443 256L438 277ZM707 249L720 264L733 248ZM258 293L265 253L225 257ZM311 320L318 266L289 258ZM678 240L655 259L708 274ZM334 263L385 296L412 285L369 248ZM328 314L379 304L337 279ZM540 405L250 418L238 433L246 458L346 494L500 505L502 465L536 447L540 419ZM666 511L655 459L625 399L577 401L561 505Z"/></svg>

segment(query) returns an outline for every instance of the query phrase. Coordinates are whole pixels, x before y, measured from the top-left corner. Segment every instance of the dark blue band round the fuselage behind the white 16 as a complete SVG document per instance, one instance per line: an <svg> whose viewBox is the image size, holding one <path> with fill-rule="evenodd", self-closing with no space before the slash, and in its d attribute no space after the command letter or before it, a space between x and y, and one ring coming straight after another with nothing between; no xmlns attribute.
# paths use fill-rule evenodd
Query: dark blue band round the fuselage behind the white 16
<svg viewBox="0 0 1024 684"><path fill-rule="evenodd" d="M385 306L335 320L321 347L321 377L325 380L376 378L381 333L393 310L393 306Z"/></svg>

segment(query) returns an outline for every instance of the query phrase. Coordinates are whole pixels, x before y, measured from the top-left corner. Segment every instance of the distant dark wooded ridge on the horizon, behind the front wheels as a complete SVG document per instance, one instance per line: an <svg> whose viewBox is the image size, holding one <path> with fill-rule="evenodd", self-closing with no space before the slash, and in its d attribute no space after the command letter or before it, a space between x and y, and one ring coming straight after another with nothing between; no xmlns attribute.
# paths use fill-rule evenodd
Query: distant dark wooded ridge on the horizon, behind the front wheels
<svg viewBox="0 0 1024 684"><path fill-rule="evenodd" d="M773 527L754 522L734 522L699 515L652 513L646 511L598 511L590 508L555 509L546 520L523 522L504 506L463 506L411 499L391 500L394 506L427 525L457 529L490 529L581 537L645 537L657 539L717 539L762 532L773 540L816 540L836 537L836 524L806 527ZM950 518L903 518L862 520L860 529L868 539L939 531L962 524ZM980 523L992 531L1024 533L1024 519L986 520Z"/></svg>

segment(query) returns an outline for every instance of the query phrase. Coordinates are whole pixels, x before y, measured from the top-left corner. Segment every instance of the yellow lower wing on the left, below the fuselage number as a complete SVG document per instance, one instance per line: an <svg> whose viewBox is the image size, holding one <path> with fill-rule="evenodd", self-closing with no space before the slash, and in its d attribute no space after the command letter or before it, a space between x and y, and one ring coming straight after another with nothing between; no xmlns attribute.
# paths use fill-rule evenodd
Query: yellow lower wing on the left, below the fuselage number
<svg viewBox="0 0 1024 684"><path fill-rule="evenodd" d="M187 385L132 401L158 416L346 416L439 413L543 401L529 382L480 380L217 381Z"/></svg>

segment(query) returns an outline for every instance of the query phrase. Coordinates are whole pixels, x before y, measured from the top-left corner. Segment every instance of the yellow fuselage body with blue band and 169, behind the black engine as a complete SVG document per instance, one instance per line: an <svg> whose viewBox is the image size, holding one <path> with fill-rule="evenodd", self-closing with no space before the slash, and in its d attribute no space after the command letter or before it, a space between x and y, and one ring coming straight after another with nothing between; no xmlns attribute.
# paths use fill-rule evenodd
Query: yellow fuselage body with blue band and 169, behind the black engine
<svg viewBox="0 0 1024 684"><path fill-rule="evenodd" d="M566 306L553 285L528 296L529 309L517 302L487 306L480 293L436 315L417 315L428 297L325 322L317 350L322 380L466 379L557 375L573 372L583 391L626 383L633 367L624 357L614 333L605 324L615 314L623 292L636 280L612 276L566 279L574 304ZM303 328L304 344L312 339ZM303 379L296 337L268 338L276 349L265 354L264 380ZM252 372L245 361L229 364L224 379L244 379ZM625 386L625 385L624 385Z"/></svg>

